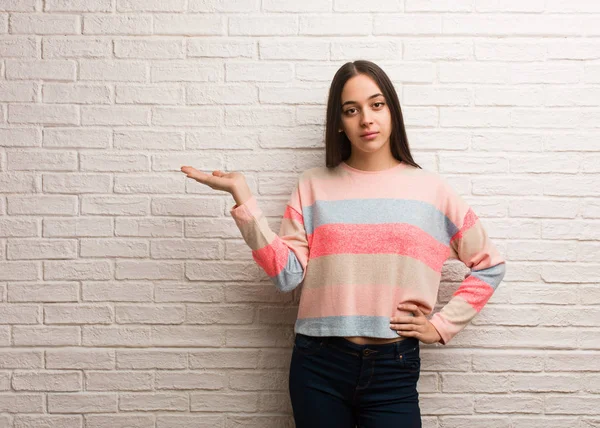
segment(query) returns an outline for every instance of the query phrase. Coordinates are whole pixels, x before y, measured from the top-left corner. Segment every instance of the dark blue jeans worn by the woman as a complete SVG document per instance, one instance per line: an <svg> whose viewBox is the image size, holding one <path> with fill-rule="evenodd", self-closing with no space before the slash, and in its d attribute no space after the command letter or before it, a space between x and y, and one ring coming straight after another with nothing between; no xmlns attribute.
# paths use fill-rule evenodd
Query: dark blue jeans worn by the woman
<svg viewBox="0 0 600 428"><path fill-rule="evenodd" d="M296 334L289 392L296 428L421 428L419 340L357 345Z"/></svg>

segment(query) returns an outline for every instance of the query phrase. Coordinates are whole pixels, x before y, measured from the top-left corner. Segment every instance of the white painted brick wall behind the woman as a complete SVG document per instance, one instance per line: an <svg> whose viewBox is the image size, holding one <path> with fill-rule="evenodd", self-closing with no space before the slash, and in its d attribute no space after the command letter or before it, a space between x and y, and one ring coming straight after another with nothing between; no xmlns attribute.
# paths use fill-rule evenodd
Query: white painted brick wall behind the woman
<svg viewBox="0 0 600 428"><path fill-rule="evenodd" d="M510 265L423 346L424 426L600 426L599 5L0 0L0 427L293 426L298 295L179 167L244 172L278 230L355 59Z"/></svg>

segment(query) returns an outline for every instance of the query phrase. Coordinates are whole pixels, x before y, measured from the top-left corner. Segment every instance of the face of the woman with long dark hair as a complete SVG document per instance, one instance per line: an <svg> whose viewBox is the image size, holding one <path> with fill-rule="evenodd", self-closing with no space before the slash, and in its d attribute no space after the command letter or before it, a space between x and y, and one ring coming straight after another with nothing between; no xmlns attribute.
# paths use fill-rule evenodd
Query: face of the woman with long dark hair
<svg viewBox="0 0 600 428"><path fill-rule="evenodd" d="M350 78L342 90L341 101L342 128L352 144L352 151L389 151L392 117L387 100L375 81L364 74ZM370 132L377 134L364 136Z"/></svg>

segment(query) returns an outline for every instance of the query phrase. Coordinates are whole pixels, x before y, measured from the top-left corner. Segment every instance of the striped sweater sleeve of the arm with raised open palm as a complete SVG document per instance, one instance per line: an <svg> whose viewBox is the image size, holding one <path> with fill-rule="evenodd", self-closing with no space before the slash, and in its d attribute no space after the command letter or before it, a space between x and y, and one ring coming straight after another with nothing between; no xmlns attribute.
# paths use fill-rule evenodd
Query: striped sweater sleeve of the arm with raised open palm
<svg viewBox="0 0 600 428"><path fill-rule="evenodd" d="M275 286L289 292L300 285L306 274L309 247L299 186L296 185L285 206L279 235L269 227L254 196L241 205L234 205L230 214L252 250L252 258Z"/></svg>

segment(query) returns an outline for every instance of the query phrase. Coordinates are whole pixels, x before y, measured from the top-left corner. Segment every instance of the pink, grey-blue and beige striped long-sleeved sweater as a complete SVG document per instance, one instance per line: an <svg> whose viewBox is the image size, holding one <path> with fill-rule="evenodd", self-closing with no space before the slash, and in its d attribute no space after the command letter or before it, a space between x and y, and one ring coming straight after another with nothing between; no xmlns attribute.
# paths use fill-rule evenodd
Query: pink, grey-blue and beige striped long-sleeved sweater
<svg viewBox="0 0 600 428"><path fill-rule="evenodd" d="M304 171L279 235L254 196L230 214L253 259L283 292L302 285L294 331L398 337L400 303L435 306L444 262L471 269L429 320L447 344L487 303L505 261L471 207L437 173L404 162L362 171L345 162Z"/></svg>

